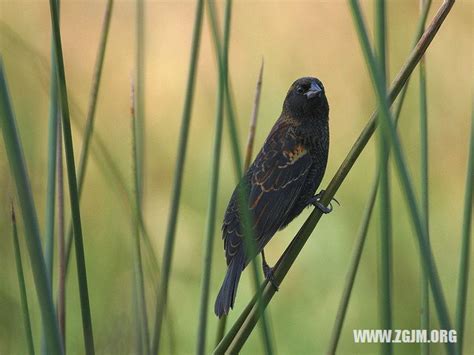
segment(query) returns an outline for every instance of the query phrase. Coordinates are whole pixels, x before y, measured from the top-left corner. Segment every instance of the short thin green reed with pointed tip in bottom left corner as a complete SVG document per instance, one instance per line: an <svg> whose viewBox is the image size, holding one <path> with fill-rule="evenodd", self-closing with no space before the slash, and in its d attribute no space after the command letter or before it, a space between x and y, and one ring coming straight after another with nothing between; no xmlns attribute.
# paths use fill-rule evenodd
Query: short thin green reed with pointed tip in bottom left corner
<svg viewBox="0 0 474 355"><path fill-rule="evenodd" d="M13 202L11 205L11 221L12 221L12 237L13 247L15 250L16 271L18 276L18 286L20 287L21 313L23 315L23 325L25 326L25 338L28 345L28 353L35 354L33 345L33 334L31 332L30 311L28 309L28 297L26 296L25 276L23 273L23 265L21 261L20 242L18 240L18 230L16 227L16 216Z"/></svg>

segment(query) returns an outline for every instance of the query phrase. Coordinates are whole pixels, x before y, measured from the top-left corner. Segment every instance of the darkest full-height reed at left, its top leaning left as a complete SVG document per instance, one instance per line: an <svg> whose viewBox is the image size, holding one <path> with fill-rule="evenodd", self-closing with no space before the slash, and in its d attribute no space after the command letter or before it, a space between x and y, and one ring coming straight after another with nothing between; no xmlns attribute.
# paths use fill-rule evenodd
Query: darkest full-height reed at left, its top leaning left
<svg viewBox="0 0 474 355"><path fill-rule="evenodd" d="M76 246L77 276L79 281L79 294L81 300L82 327L86 354L92 355L94 351L94 336L92 331L92 318L87 286L87 272L84 255L84 242L82 236L81 213L79 209L78 185L76 167L74 162L74 147L69 117L69 103L67 97L66 75L62 55L61 32L59 27L58 7L55 0L50 0L51 25L53 29L56 62L58 66L58 88L61 99L64 148L66 152L67 174L69 182L69 198L71 202L71 216L74 228L74 241ZM48 348L49 349L49 348Z"/></svg>

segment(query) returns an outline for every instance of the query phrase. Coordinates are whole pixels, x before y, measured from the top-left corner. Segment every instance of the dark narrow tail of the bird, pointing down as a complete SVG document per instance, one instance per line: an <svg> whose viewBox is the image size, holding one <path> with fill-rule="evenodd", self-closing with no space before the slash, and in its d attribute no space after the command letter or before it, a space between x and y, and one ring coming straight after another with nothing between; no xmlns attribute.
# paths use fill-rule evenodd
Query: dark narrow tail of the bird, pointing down
<svg viewBox="0 0 474 355"><path fill-rule="evenodd" d="M229 310L234 307L237 286L239 285L240 275L242 274L244 265L245 256L244 253L240 252L234 256L227 268L227 274L225 275L224 282L217 295L216 304L214 305L214 312L219 318L229 313Z"/></svg>

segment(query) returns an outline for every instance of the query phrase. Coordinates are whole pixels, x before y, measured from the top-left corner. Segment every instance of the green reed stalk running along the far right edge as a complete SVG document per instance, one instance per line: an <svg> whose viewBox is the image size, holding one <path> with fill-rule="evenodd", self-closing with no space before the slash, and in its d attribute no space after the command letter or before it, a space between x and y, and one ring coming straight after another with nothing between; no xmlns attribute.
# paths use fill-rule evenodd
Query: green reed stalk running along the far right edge
<svg viewBox="0 0 474 355"><path fill-rule="evenodd" d="M461 250L459 258L458 291L456 301L456 329L458 334L458 353L462 354L464 328L466 322L467 292L469 283L469 260L472 238L472 202L474 185L474 99L471 112L471 137L467 162L466 189L464 192L464 215L461 235Z"/></svg>

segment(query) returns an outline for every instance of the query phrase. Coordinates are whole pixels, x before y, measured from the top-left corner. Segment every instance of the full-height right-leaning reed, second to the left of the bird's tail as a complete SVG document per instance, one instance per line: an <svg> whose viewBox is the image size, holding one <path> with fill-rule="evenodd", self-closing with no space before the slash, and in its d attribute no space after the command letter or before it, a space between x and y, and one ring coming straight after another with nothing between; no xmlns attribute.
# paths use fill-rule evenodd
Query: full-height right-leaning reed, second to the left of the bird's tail
<svg viewBox="0 0 474 355"><path fill-rule="evenodd" d="M196 14L194 19L193 39L191 48L191 58L189 64L188 82L186 87L186 96L184 101L183 116L181 120L181 132L178 144L178 157L176 161L176 171L173 182L173 192L171 196L170 215L166 230L165 246L163 251L163 266L161 268L161 280L158 285L158 295L155 313L155 328L151 346L151 353L157 354L163 316L166 309L168 297L168 283L171 274L171 262L173 258L173 248L176 233L176 225L179 211L179 200L181 196L181 186L184 173L184 161L186 158L186 146L188 142L189 124L191 121L191 108L194 96L194 86L196 81L196 67L199 56L199 47L201 42L201 27L203 17L204 0L198 0L196 5Z"/></svg>

